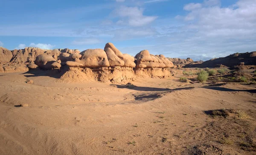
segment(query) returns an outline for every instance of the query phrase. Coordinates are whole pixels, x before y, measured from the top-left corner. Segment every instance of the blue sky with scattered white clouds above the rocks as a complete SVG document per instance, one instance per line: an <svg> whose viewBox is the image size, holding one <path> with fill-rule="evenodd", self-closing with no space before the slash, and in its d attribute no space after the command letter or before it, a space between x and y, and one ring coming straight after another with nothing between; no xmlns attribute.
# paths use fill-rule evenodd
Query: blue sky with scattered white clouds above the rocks
<svg viewBox="0 0 256 155"><path fill-rule="evenodd" d="M256 0L0 0L0 46L209 60L256 51Z"/></svg>

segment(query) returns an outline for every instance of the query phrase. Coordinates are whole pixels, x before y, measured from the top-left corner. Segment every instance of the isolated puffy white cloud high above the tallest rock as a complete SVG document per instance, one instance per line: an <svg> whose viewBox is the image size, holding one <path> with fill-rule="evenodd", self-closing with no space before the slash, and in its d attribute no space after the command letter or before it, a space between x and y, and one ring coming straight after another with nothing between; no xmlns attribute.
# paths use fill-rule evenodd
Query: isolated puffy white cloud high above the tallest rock
<svg viewBox="0 0 256 155"><path fill-rule="evenodd" d="M118 23L122 21L130 26L145 26L157 19L157 16L143 15L143 11L144 9L139 7L121 6L115 10L115 14L122 18Z"/></svg>

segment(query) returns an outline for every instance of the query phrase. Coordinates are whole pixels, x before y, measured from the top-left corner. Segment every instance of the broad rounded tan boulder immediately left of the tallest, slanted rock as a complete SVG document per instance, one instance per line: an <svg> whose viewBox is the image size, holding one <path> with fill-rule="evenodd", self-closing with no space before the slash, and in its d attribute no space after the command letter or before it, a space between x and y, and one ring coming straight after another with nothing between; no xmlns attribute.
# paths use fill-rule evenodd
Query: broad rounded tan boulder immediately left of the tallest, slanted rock
<svg viewBox="0 0 256 155"><path fill-rule="evenodd" d="M103 49L87 49L80 53L82 55L78 63L82 63L84 67L108 67L109 61L106 52Z"/></svg>

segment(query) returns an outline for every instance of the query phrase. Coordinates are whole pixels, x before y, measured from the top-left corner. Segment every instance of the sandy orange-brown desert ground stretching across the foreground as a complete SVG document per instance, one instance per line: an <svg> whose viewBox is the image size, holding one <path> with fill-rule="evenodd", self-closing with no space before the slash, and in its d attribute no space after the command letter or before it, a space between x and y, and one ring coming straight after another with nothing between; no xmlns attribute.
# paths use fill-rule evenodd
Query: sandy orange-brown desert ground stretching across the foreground
<svg viewBox="0 0 256 155"><path fill-rule="evenodd" d="M42 74L0 74L1 155L256 154L255 85L177 74L128 88Z"/></svg>

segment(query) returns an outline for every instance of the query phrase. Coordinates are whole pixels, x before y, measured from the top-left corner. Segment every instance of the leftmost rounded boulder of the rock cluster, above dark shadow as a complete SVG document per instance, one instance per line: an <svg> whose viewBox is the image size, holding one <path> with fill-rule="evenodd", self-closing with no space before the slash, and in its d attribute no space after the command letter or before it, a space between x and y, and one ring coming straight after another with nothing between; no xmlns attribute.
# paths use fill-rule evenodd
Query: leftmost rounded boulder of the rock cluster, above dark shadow
<svg viewBox="0 0 256 155"><path fill-rule="evenodd" d="M38 55L35 59L35 64L41 69L52 69L52 67L60 68L61 66L61 64L56 62L56 60L51 55L47 54Z"/></svg>

